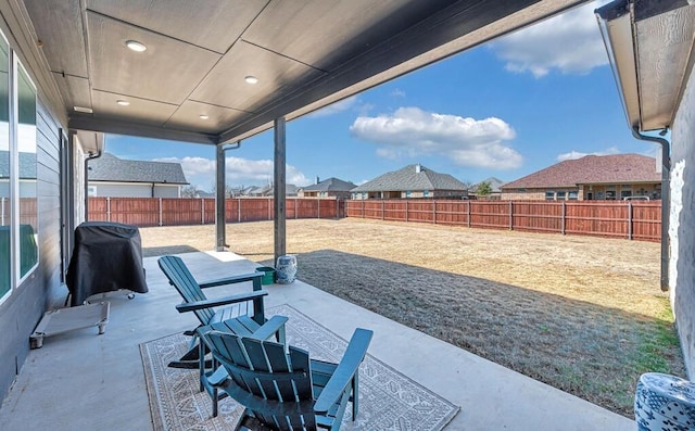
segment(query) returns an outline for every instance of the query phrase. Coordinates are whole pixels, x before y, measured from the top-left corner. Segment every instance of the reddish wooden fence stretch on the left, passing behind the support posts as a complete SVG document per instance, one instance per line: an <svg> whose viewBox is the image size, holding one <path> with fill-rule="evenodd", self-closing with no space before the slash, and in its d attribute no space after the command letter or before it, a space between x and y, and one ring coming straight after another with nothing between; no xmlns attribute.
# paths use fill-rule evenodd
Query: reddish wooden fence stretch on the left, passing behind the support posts
<svg viewBox="0 0 695 431"><path fill-rule="evenodd" d="M273 198L225 201L226 223L271 220ZM89 198L90 221L116 221L139 227L207 225L215 223L215 200L210 198ZM344 201L288 198L287 218L344 217Z"/></svg>

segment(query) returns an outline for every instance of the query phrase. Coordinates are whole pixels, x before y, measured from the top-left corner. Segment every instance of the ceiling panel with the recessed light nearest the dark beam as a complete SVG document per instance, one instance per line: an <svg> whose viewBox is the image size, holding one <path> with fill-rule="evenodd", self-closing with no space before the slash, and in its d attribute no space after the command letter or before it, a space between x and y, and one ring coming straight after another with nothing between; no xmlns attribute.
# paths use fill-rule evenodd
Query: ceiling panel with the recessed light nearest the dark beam
<svg viewBox="0 0 695 431"><path fill-rule="evenodd" d="M240 41L205 77L190 99L257 112L262 102L281 99L321 75L320 71L303 63ZM255 76L258 83L247 84L247 76Z"/></svg>

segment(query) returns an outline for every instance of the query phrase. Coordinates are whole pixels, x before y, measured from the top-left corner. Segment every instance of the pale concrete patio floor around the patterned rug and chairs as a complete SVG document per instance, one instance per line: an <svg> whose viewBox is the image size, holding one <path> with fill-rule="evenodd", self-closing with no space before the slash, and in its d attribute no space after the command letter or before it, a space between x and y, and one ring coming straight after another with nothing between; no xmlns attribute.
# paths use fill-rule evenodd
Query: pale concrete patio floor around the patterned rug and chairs
<svg viewBox="0 0 695 431"><path fill-rule="evenodd" d="M198 280L249 272L258 266L228 252L180 256ZM97 335L97 328L76 330L47 338L43 347L29 352L0 408L0 429L152 429L139 344L190 329L197 320L174 308L180 296L156 258L146 258L144 266L149 293L134 300L124 292L105 295L111 316L104 334ZM356 327L372 329L372 356L460 406L447 431L636 428L620 415L299 280L265 288L270 292L266 307L290 304L343 339Z"/></svg>

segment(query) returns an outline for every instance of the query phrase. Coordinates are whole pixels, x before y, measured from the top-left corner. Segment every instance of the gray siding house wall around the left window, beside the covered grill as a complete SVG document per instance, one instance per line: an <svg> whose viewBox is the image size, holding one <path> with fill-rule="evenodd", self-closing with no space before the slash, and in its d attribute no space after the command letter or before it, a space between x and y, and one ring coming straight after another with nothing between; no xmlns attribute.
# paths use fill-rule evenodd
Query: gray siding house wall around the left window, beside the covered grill
<svg viewBox="0 0 695 431"><path fill-rule="evenodd" d="M58 122L39 98L37 104L39 266L0 305L0 397L4 397L29 351L29 334L61 289L60 150ZM61 297L62 296L62 297Z"/></svg>

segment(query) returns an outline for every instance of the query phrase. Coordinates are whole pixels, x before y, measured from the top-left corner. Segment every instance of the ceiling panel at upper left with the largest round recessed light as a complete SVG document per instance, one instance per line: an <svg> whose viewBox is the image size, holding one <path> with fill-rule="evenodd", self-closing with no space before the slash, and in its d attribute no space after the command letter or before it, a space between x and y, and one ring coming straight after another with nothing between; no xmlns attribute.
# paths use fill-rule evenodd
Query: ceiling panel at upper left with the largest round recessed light
<svg viewBox="0 0 695 431"><path fill-rule="evenodd" d="M94 90L180 104L220 55L212 51L88 13ZM144 43L144 52L126 41Z"/></svg>

